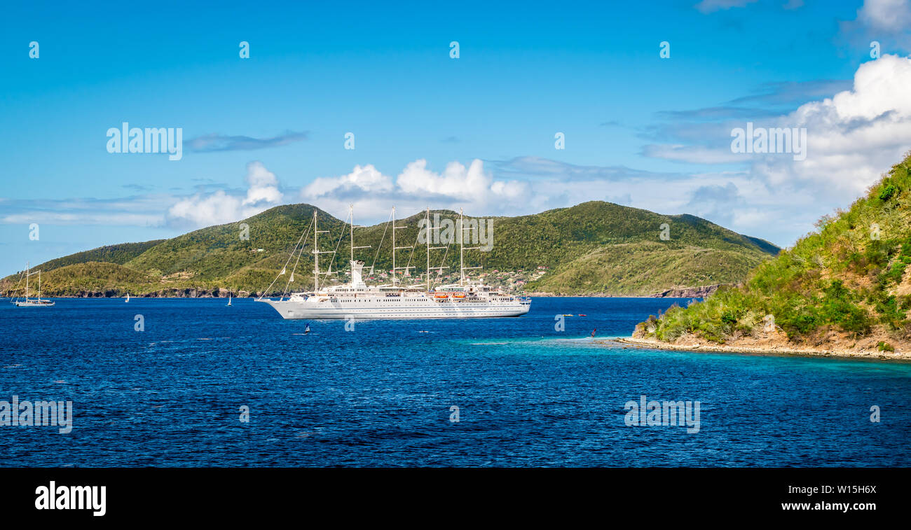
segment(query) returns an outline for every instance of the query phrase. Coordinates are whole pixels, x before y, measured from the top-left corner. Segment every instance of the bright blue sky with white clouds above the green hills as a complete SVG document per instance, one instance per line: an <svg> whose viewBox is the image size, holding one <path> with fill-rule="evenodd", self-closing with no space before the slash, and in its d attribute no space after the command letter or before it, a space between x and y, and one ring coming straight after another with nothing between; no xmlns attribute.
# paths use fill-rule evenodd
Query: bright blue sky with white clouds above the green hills
<svg viewBox="0 0 911 530"><path fill-rule="evenodd" d="M5 5L0 274L294 202L600 199L786 246L911 148L901 94L855 87L906 82L906 1L326 4ZM182 127L183 158L108 153L124 121ZM807 127L807 160L732 156L747 121Z"/></svg>

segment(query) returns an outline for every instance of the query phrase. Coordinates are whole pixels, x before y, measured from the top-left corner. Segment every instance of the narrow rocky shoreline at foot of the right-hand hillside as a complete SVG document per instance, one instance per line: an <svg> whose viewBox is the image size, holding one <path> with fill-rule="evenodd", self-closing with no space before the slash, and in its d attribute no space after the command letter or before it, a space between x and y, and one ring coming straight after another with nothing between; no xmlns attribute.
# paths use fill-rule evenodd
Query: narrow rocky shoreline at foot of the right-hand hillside
<svg viewBox="0 0 911 530"><path fill-rule="evenodd" d="M602 344L624 344L653 350L672 350L675 352L720 352L720 353L761 353L776 355L802 355L807 357L842 357L848 359L875 359L880 361L911 362L911 354L907 352L879 352L875 350L847 350L832 349L818 350L813 348L794 348L771 345L768 347L757 346L725 346L722 344L670 344L668 342L651 341L633 337L618 337L609 341L599 341Z"/></svg>

